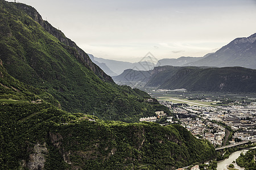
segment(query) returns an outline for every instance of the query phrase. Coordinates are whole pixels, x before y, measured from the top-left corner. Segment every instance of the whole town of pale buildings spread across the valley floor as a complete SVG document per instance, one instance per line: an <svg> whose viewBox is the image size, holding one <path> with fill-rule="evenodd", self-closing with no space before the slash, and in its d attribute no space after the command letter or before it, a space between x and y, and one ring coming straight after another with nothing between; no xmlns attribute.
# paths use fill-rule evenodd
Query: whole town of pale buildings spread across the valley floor
<svg viewBox="0 0 256 170"><path fill-rule="evenodd" d="M160 99L160 100L159 100ZM228 144L254 141L256 139L256 101L218 104L220 101L203 99L210 105L194 103L165 97L161 104L170 108L172 116L163 111L155 112L153 117L144 117L139 121L158 122L161 125L181 124L196 138L207 139L215 147ZM226 99L229 100L229 99Z"/></svg>

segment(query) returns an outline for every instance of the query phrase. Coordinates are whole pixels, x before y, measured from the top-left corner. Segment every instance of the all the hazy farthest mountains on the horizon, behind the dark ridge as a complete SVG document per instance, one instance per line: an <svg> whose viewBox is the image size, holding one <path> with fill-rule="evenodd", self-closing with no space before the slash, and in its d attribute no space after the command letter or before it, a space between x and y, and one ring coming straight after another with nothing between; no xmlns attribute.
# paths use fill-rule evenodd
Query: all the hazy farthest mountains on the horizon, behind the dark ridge
<svg viewBox="0 0 256 170"><path fill-rule="evenodd" d="M223 46L215 53L208 53L203 57L179 57L179 58L163 58L156 64L148 63L130 63L122 61L114 61L110 59L96 58L96 61L105 63L110 70L117 75L124 70L133 69L147 71L152 70L155 66L210 66L210 67L233 67L240 66L249 69L256 69L256 33L249 37L237 38L228 45ZM142 67L148 64L151 67ZM105 67L102 67L105 71ZM108 69L106 69L107 73ZM110 76L116 76L110 73Z"/></svg>

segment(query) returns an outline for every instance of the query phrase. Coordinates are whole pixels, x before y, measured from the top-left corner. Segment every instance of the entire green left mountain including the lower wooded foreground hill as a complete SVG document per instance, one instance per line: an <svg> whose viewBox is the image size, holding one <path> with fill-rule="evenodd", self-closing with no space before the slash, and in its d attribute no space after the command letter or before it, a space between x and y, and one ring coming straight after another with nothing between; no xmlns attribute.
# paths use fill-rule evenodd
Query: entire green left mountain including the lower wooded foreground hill
<svg viewBox="0 0 256 170"><path fill-rule="evenodd" d="M176 169L216 157L180 125L138 123L171 113L115 84L35 8L0 0L0 35L0 169Z"/></svg>

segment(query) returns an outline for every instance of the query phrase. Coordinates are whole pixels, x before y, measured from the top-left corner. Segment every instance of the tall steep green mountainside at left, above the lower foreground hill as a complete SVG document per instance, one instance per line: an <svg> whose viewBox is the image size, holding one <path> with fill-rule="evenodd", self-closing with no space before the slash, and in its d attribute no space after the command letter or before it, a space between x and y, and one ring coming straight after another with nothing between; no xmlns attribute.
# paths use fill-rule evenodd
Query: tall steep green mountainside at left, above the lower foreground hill
<svg viewBox="0 0 256 170"><path fill-rule="evenodd" d="M158 103L144 102L146 93L114 84L30 6L1 0L0 34L0 59L8 73L51 94L65 111L135 122L159 109Z"/></svg>

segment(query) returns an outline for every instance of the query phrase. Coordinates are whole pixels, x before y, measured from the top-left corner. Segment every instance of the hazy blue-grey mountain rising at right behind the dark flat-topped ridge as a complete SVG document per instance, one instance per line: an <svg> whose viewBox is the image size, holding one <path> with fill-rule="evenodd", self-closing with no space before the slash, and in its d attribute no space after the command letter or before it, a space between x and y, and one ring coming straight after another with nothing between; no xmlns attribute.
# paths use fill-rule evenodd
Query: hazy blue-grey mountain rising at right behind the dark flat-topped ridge
<svg viewBox="0 0 256 170"><path fill-rule="evenodd" d="M156 66L240 66L256 69L256 33L249 37L237 38L215 53L204 57L180 57L160 59Z"/></svg>

